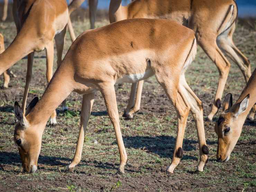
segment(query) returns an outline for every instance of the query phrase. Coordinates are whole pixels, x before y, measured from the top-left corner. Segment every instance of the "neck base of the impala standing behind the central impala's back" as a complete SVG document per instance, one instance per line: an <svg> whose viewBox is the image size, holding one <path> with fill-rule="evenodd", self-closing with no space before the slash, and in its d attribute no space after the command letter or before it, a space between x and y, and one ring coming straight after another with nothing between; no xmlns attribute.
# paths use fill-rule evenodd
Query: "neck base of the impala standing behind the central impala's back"
<svg viewBox="0 0 256 192"><path fill-rule="evenodd" d="M109 5L110 23L128 18L128 6L122 6L122 0L111 0Z"/></svg>

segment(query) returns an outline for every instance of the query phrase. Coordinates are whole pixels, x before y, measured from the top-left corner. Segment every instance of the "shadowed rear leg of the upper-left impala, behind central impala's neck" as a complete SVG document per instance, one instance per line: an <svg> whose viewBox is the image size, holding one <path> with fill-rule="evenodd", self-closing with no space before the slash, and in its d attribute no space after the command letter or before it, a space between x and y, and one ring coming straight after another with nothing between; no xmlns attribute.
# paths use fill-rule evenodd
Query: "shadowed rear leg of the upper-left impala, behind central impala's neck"
<svg viewBox="0 0 256 192"><path fill-rule="evenodd" d="M56 44L56 49L57 49L57 65L60 66L62 62L62 54L63 54L63 49L64 49L64 44L65 44L65 36L66 36L66 29L65 27L61 33L57 34L55 36L55 44ZM67 110L66 106L66 99L62 102L62 111Z"/></svg>

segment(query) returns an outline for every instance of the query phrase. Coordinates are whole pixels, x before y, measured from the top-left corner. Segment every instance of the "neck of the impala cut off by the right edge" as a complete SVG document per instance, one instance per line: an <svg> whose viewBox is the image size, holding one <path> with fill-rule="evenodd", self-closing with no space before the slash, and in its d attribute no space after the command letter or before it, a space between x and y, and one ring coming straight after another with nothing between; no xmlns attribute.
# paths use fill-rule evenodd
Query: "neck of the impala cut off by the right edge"
<svg viewBox="0 0 256 192"><path fill-rule="evenodd" d="M252 109L252 107L254 106L254 104L256 103L256 69L254 70L252 76L250 77L248 83L246 84L244 90L242 91L240 97L238 98L238 100L236 101L236 103L241 102L248 94L250 94L250 98L249 98L249 104L248 107L246 109L246 111L243 113L243 115L241 114L241 121L243 120L243 122L245 121L248 113L250 112L250 110Z"/></svg>

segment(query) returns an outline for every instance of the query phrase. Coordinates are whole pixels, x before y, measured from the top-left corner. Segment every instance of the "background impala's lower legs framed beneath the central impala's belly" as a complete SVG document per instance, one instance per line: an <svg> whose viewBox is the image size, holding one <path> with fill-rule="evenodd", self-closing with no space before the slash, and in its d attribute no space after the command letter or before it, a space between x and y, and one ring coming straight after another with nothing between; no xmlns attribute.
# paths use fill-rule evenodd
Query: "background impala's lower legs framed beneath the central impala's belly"
<svg viewBox="0 0 256 192"><path fill-rule="evenodd" d="M123 115L127 119L132 119L134 116L134 113L138 112L140 109L143 83L144 81L132 83L129 103Z"/></svg>

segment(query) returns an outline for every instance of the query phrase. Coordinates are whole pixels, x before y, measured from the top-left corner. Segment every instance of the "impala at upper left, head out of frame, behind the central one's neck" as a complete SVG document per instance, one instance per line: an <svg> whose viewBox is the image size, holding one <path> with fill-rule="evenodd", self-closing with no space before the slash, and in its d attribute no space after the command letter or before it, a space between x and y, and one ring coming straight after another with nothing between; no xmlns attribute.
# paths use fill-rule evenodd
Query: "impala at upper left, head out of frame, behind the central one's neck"
<svg viewBox="0 0 256 192"><path fill-rule="evenodd" d="M22 101L25 112L29 84L32 77L34 52L46 49L46 77L49 82L53 74L55 38L57 63L62 61L65 42L68 9L65 0L28 0L13 1L13 17L17 27L17 36L11 45L0 55L0 74L28 55L26 85ZM4 80L6 85L8 80ZM8 86L8 83L7 83ZM51 116L51 124L56 124L56 112Z"/></svg>

